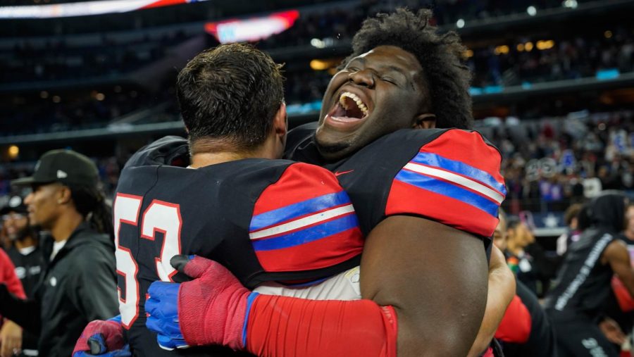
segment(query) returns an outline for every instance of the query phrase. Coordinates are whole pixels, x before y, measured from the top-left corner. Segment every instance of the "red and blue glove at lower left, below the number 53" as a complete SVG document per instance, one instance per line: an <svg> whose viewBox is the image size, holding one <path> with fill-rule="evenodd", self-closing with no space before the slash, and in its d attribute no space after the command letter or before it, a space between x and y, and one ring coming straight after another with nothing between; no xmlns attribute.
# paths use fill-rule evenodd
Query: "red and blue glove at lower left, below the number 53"
<svg viewBox="0 0 634 357"><path fill-rule="evenodd" d="M73 357L102 356L129 357L130 346L123 340L121 316L117 315L106 321L94 320L84 328L77 339Z"/></svg>

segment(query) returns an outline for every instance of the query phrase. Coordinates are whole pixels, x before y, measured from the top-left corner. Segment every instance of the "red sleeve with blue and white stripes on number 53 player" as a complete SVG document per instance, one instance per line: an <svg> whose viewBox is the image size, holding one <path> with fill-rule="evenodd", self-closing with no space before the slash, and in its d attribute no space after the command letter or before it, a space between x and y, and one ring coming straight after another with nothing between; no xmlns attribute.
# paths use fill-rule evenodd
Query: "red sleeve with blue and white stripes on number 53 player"
<svg viewBox="0 0 634 357"><path fill-rule="evenodd" d="M354 207L330 171L290 165L259 197L249 226L267 272L326 268L361 253Z"/></svg>

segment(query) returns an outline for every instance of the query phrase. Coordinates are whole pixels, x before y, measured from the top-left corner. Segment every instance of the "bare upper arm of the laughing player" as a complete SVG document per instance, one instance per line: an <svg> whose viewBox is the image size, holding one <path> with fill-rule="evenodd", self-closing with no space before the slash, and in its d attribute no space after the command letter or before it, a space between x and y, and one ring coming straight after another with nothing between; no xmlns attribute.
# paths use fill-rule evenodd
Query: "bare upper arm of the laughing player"
<svg viewBox="0 0 634 357"><path fill-rule="evenodd" d="M466 356L487 300L483 243L418 217L386 218L366 239L361 294L398 316L398 356Z"/></svg>

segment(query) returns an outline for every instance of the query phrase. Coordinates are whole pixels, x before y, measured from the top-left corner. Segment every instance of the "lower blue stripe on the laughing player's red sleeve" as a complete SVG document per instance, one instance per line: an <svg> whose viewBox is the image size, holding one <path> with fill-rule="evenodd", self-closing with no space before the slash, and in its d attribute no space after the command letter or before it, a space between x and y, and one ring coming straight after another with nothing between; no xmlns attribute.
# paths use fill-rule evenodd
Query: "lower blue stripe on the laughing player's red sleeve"
<svg viewBox="0 0 634 357"><path fill-rule="evenodd" d="M481 211L489 213L493 217L497 217L497 203L485 199L483 196L475 194L468 189L456 186L455 184L437 180L433 177L421 175L420 173L414 173L408 170L401 170L397 175L396 180L407 184L413 184L420 189L425 189L434 192L435 194L442 194L443 196L462 201L480 209ZM422 202L421 204L425 203Z"/></svg>

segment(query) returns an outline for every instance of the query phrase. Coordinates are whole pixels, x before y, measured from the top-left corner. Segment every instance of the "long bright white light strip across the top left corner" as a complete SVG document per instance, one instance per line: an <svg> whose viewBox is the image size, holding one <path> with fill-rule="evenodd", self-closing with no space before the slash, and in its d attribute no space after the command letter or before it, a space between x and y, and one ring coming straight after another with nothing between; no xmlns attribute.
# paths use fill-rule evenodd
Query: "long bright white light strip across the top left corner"
<svg viewBox="0 0 634 357"><path fill-rule="evenodd" d="M67 18L189 4L207 0L104 0L66 4L0 6L0 18Z"/></svg>

